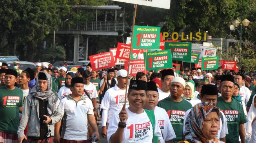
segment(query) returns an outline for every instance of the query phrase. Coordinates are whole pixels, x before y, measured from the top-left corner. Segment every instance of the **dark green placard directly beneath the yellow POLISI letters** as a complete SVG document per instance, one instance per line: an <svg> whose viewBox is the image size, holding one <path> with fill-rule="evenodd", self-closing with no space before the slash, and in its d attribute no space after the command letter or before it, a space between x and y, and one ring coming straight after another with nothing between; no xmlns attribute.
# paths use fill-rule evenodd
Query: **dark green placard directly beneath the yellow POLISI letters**
<svg viewBox="0 0 256 143"><path fill-rule="evenodd" d="M191 61L191 46L189 42L165 42L165 49L171 49L172 60Z"/></svg>

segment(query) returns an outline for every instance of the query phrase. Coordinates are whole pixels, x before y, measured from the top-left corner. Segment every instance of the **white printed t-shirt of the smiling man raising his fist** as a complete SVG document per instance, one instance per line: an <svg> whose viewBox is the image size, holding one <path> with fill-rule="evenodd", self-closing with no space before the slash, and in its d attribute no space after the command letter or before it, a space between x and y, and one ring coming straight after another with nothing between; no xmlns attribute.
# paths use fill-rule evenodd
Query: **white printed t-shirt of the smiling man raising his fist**
<svg viewBox="0 0 256 143"><path fill-rule="evenodd" d="M118 128L118 123L120 122L119 113L121 110L116 111L114 113L111 122L109 123L109 127L107 129L107 141L111 143L111 136L116 132ZM126 112L128 113L128 119L126 121L126 127L123 131L123 140L122 143L152 143L153 139L153 127L147 116L147 113L144 111L143 113L136 114L131 112L128 108L126 108ZM157 120L155 116L155 120ZM158 136L159 139L162 138L161 130L158 125L158 122L155 122L155 136Z"/></svg>

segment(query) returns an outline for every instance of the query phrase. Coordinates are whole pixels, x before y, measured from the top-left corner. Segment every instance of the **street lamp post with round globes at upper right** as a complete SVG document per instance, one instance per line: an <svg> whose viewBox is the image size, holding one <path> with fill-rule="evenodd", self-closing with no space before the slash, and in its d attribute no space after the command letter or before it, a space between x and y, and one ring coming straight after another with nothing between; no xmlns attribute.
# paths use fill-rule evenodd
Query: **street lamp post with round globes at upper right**
<svg viewBox="0 0 256 143"><path fill-rule="evenodd" d="M240 38L240 48L242 47L242 25L245 27L245 30L247 29L247 26L250 24L250 21L247 19L244 19L242 22L238 21L238 20L234 20L232 22L232 25L230 25L230 30L231 31L237 31L239 38ZM238 29L238 26L240 25L240 30ZM240 68L241 68L241 49L240 49Z"/></svg>

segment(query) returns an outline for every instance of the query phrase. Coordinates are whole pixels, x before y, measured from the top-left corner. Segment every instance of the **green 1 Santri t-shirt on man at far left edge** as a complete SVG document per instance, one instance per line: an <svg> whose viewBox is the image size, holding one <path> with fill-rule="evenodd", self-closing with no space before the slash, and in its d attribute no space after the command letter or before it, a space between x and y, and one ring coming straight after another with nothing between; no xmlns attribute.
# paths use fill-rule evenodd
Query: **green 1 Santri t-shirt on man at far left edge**
<svg viewBox="0 0 256 143"><path fill-rule="evenodd" d="M23 105L23 92L0 88L0 132L16 133L19 127L19 107Z"/></svg>

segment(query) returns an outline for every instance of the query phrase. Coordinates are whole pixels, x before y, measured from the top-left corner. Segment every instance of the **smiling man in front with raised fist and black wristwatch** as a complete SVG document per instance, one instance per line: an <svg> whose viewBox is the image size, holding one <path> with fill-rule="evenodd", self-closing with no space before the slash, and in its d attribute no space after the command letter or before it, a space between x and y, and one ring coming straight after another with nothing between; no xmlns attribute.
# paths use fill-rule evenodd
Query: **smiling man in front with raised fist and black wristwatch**
<svg viewBox="0 0 256 143"><path fill-rule="evenodd" d="M123 106L114 113L107 129L108 143L159 143L162 134L158 120L153 111L142 109L146 96L147 82L131 80L127 95L129 107Z"/></svg>

